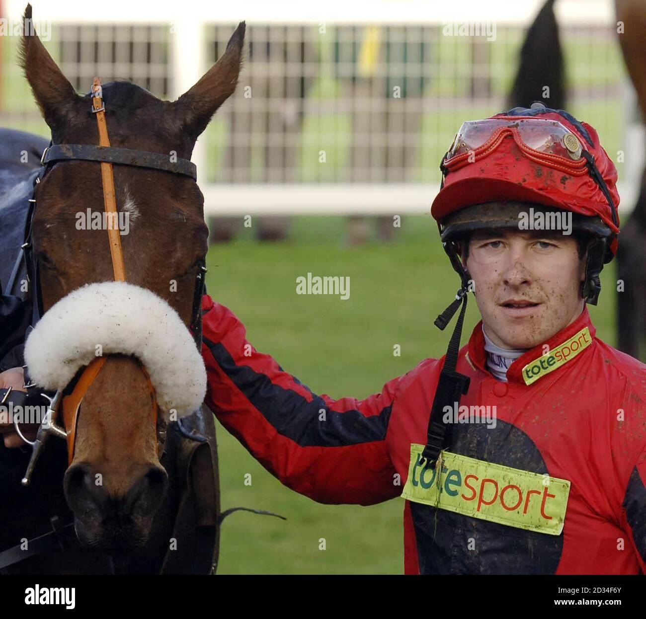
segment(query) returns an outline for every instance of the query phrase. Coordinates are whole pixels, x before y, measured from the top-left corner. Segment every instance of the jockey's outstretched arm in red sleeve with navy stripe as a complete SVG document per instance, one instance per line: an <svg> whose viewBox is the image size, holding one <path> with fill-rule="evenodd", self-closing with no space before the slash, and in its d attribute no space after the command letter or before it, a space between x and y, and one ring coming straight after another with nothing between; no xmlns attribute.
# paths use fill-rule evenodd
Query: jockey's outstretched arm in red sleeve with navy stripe
<svg viewBox="0 0 646 619"><path fill-rule="evenodd" d="M230 310L207 295L202 310L205 403L271 474L320 503L401 494L386 446L399 379L364 400L316 395L255 350Z"/></svg>

